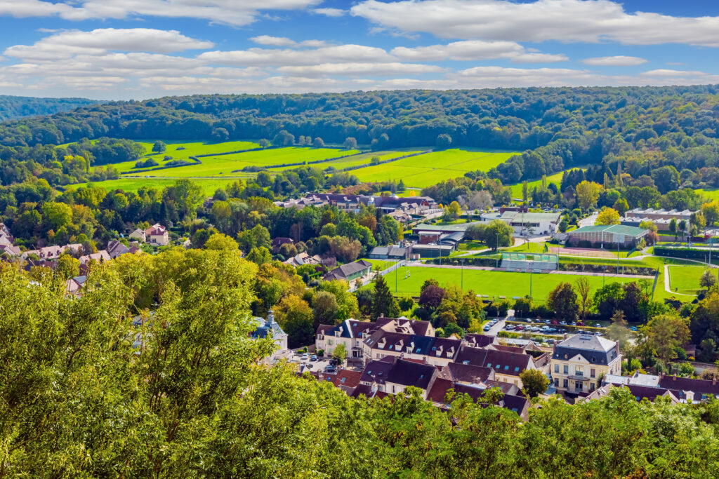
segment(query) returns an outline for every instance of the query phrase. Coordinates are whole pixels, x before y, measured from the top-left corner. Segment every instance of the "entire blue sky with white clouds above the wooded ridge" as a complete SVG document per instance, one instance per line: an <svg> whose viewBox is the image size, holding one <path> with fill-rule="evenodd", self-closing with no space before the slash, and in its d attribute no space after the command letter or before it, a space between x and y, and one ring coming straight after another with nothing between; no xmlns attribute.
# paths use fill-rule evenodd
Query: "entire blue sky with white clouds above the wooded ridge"
<svg viewBox="0 0 719 479"><path fill-rule="evenodd" d="M719 83L716 0L0 0L0 93Z"/></svg>

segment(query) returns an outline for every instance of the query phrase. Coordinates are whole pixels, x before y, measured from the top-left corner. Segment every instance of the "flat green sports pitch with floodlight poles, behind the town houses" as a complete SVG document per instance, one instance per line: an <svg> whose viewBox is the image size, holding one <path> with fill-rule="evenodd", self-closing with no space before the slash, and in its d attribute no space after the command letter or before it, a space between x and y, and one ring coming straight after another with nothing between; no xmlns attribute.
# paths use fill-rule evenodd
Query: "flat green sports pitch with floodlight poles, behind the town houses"
<svg viewBox="0 0 719 479"><path fill-rule="evenodd" d="M426 279L434 278L439 284L457 284L462 285L462 269L459 268L429 268L426 266L408 266L407 268L399 268L397 271L397 292L405 294L419 294L419 289ZM411 276L405 279L406 271L410 271ZM532 281L532 297L537 300L546 299L551 290L557 287L557 284L569 282L574 284L579 275L568 274L528 274L515 273L509 271L487 271L482 269L464 269L464 291L472 289L476 294L487 294L493 296L505 296L512 298L515 296L525 296L529 294L529 281ZM602 276L584 276L589 280L592 286L592 294L597 288L602 287L603 281L606 284L610 282L626 282L626 279ZM395 273L391 272L385 276L385 281L390 287L390 291L395 291Z"/></svg>

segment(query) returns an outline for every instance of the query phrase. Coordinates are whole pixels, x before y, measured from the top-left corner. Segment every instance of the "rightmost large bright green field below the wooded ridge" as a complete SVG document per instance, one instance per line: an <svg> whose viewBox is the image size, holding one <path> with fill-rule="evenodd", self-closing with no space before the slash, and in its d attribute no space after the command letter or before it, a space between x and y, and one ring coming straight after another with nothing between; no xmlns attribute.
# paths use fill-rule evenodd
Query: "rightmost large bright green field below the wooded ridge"
<svg viewBox="0 0 719 479"><path fill-rule="evenodd" d="M408 187L423 188L441 180L460 177L468 171L489 171L515 154L455 148L355 169L352 174L362 182L383 182L401 178Z"/></svg>

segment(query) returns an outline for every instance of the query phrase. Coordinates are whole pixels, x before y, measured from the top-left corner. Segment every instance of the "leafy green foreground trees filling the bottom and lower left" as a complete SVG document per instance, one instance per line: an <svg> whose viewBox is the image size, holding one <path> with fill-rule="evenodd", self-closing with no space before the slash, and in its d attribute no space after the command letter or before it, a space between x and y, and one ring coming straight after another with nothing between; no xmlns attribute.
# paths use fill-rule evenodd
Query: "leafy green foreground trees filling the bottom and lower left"
<svg viewBox="0 0 719 479"><path fill-rule="evenodd" d="M248 338L257 271L225 248L124 255L93 265L75 298L50 271L0 265L0 476L719 475L715 400L614 390L542 401L521 422L499 391L443 411L413 388L352 399L261 366L273 343Z"/></svg>

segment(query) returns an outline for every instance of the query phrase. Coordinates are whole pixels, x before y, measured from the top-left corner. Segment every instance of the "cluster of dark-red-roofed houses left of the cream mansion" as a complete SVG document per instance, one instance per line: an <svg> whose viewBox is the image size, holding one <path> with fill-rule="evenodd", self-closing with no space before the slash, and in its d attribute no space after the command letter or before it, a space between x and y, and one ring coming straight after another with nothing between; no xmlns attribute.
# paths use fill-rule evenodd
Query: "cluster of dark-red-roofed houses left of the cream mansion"
<svg viewBox="0 0 719 479"><path fill-rule="evenodd" d="M504 393L502 405L521 417L526 417L530 403L521 394L520 373L549 371L551 360L549 353L531 342L503 345L498 338L475 334L437 338L430 322L405 317L379 317L376 322L345 320L336 326L318 327L316 350L331 355L340 344L347 351L348 365L359 371L315 374L321 380L337 382L350 396L383 397L414 386L427 401L446 406L449 389L479 399L487 389L498 387Z"/></svg>

